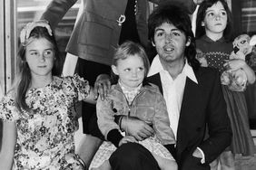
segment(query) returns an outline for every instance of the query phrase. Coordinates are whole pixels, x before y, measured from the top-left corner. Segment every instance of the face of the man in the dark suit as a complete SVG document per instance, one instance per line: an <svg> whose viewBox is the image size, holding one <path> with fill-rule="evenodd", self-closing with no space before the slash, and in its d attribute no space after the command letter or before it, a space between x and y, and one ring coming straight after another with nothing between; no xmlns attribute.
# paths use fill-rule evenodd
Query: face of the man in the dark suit
<svg viewBox="0 0 256 170"><path fill-rule="evenodd" d="M153 39L161 61L184 61L185 47L190 45L190 39L187 41L185 34L173 24L163 23L156 27Z"/></svg>

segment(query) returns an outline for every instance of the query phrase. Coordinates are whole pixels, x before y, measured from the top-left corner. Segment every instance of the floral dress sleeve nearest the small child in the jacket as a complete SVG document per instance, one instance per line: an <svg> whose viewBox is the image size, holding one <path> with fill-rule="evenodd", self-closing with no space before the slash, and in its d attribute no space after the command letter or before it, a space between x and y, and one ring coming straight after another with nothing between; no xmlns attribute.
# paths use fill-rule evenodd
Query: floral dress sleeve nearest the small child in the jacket
<svg viewBox="0 0 256 170"><path fill-rule="evenodd" d="M88 80L84 80L79 75L74 74L74 77L71 77L72 84L74 85L74 91L77 93L78 100L85 99L90 94L90 85Z"/></svg>

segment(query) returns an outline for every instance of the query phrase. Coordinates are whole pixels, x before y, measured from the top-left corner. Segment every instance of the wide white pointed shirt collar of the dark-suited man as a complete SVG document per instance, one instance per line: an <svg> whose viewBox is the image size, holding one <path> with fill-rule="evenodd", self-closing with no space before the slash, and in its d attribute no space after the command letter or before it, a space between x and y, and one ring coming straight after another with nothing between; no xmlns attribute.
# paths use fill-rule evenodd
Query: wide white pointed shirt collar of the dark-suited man
<svg viewBox="0 0 256 170"><path fill-rule="evenodd" d="M162 63L161 63L161 61L159 59L159 55L156 55L153 58L153 62L151 64L151 68L150 68L150 71L148 73L148 77L152 76L154 74L157 74L157 73L159 73L161 71L165 71L165 70L162 67ZM183 67L182 73L184 75L186 75L189 79L191 79L192 81L194 81L195 83L198 84L198 81L197 81L197 79L195 77L194 71L192 70L192 66L189 65L187 60L186 60L185 65Z"/></svg>

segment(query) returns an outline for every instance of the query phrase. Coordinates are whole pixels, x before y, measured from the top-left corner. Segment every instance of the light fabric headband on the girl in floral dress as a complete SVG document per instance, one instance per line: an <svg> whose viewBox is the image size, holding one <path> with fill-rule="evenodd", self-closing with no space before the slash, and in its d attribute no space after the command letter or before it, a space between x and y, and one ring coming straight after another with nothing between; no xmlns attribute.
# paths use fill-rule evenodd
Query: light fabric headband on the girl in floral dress
<svg viewBox="0 0 256 170"><path fill-rule="evenodd" d="M25 43L25 41L26 41L26 39L28 39L31 31L36 26L45 27L47 29L48 33L50 35L53 35L52 29L51 29L50 25L48 24L48 22L46 20L39 20L37 22L32 22L32 23L28 23L28 24L25 25L25 27L23 28L23 30L20 33L20 41L21 41L21 43Z"/></svg>

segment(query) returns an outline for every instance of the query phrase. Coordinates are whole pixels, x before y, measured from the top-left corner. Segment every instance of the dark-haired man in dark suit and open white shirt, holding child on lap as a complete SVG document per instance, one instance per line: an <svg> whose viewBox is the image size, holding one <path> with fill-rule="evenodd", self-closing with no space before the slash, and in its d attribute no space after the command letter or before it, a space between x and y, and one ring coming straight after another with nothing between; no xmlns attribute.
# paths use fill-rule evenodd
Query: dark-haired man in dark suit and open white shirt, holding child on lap
<svg viewBox="0 0 256 170"><path fill-rule="evenodd" d="M219 71L202 68L195 59L195 39L189 15L175 5L160 5L149 20L149 37L157 54L149 71L166 100L176 137L172 156L179 169L210 169L210 163L231 143L231 125L222 94ZM133 125L140 120L122 118L121 128L141 133ZM209 137L204 140L206 126ZM135 148L137 146L137 148ZM139 162L151 164L153 157L135 143L123 144L110 157L113 170ZM131 162L127 161L127 157ZM142 166L143 169L143 166Z"/></svg>

